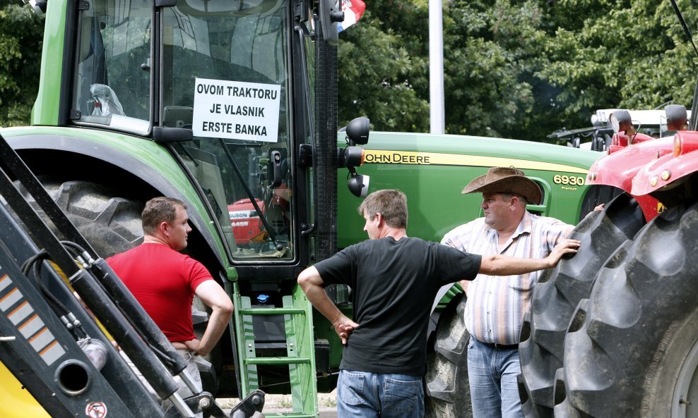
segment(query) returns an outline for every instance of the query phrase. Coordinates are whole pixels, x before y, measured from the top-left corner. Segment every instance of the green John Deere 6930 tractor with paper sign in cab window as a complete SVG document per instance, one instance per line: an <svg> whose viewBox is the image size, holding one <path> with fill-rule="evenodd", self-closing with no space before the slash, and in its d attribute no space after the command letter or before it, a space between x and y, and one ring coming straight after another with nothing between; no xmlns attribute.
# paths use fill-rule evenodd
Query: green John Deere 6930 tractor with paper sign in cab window
<svg viewBox="0 0 698 418"><path fill-rule="evenodd" d="M235 303L225 338L200 365L206 391L218 398L291 393L285 416L317 417L317 392L336 386L342 346L295 278L367 238L356 212L367 192L406 192L408 233L435 241L480 215L478 196L460 190L490 166L523 169L545 196L529 209L568 223L608 197L605 186L586 184L593 152L487 137L369 135L367 118L338 133L341 10L332 1L31 4L45 13L40 93L32 125L0 135L101 257L141 242L147 199L187 203L187 252ZM350 289L328 292L351 312ZM429 410L464 417L460 350L468 336L454 325L460 288L442 293L425 379ZM193 315L206 323L204 310ZM30 408L18 408L20 400L45 405L45 394L27 393L25 378L8 369L0 375L14 401L0 406L3 417Z"/></svg>

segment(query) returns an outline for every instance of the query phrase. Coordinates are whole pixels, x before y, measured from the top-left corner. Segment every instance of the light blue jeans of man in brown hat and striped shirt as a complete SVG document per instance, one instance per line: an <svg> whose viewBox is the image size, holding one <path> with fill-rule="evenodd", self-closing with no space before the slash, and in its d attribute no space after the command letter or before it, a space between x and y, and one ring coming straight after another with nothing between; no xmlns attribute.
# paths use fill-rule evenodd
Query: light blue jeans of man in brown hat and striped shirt
<svg viewBox="0 0 698 418"><path fill-rule="evenodd" d="M468 380L473 418L523 418L519 383L519 350L497 350L471 337Z"/></svg>

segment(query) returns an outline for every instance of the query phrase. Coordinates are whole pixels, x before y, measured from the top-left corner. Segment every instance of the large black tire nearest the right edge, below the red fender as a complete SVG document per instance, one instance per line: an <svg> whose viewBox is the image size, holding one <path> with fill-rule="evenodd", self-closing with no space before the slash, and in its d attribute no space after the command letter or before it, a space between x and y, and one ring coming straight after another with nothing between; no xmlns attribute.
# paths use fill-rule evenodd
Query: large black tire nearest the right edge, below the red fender
<svg viewBox="0 0 698 418"><path fill-rule="evenodd" d="M555 417L698 413L698 204L653 219L599 272L564 345Z"/></svg>

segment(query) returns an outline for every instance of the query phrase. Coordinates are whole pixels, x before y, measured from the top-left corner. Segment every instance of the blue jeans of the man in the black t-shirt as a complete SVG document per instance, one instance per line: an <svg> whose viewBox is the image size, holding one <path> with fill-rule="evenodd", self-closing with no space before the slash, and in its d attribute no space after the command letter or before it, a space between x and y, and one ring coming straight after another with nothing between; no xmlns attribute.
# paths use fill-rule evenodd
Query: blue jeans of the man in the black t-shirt
<svg viewBox="0 0 698 418"><path fill-rule="evenodd" d="M408 374L340 370L337 417L422 418L422 378Z"/></svg>

